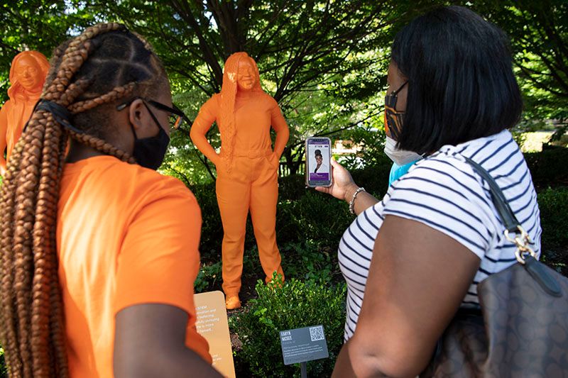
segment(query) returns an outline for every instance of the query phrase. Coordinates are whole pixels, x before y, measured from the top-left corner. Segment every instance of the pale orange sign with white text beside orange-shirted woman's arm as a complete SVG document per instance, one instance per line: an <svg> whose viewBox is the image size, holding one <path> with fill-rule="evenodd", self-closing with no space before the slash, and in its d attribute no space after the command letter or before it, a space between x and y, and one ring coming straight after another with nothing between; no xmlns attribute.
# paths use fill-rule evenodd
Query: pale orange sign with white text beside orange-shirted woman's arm
<svg viewBox="0 0 568 378"><path fill-rule="evenodd" d="M221 291L208 291L195 294L193 297L197 312L195 327L209 343L209 354L213 357L213 367L225 377L235 378L224 294Z"/></svg>

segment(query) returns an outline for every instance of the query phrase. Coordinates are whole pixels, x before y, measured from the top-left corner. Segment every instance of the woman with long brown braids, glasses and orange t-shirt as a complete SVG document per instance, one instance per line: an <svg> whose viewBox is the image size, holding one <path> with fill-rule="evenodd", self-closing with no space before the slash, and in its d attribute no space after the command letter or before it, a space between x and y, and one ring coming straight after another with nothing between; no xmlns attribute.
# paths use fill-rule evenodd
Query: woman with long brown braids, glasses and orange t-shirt
<svg viewBox="0 0 568 378"><path fill-rule="evenodd" d="M55 50L1 189L11 377L219 376L195 330L200 209L153 170L172 114L160 60L124 26Z"/></svg>

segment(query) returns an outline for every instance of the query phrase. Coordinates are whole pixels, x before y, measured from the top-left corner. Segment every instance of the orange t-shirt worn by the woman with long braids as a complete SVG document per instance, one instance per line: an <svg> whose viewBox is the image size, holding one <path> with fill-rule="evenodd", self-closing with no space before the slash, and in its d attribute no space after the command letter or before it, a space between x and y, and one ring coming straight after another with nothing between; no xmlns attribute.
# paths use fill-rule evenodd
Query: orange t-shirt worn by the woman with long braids
<svg viewBox="0 0 568 378"><path fill-rule="evenodd" d="M186 345L211 363L195 329L200 232L200 207L178 179L111 156L65 165L57 245L71 377L114 376L115 316L136 304L186 311Z"/></svg>

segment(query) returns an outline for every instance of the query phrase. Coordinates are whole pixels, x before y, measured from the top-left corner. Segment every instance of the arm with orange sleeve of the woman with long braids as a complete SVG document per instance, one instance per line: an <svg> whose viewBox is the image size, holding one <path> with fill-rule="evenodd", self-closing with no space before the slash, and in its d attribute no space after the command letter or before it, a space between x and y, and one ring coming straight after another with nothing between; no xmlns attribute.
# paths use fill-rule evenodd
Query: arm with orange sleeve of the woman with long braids
<svg viewBox="0 0 568 378"><path fill-rule="evenodd" d="M199 377L213 372L200 358L209 357L205 340L188 327L196 320L201 211L178 180L149 185L117 251L114 369L117 377Z"/></svg>

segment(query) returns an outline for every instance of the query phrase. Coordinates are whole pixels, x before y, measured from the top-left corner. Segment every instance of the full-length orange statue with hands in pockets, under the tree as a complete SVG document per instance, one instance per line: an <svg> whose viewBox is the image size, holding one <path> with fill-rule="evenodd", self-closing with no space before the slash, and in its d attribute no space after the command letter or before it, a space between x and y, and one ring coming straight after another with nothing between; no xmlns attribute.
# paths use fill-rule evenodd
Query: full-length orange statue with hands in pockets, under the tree
<svg viewBox="0 0 568 378"><path fill-rule="evenodd" d="M205 134L217 121L219 154ZM276 132L274 148L271 126ZM278 164L290 132L276 101L261 88L256 62L236 52L225 62L221 93L200 109L191 128L197 148L217 167L217 202L223 222L223 291L226 308L241 306L246 216L251 211L266 282L283 274L276 245Z"/></svg>

